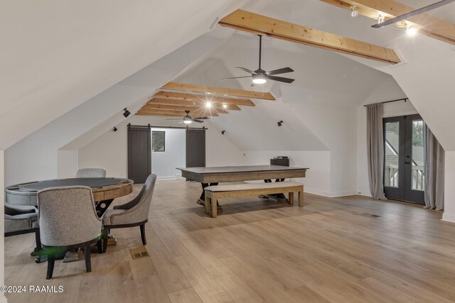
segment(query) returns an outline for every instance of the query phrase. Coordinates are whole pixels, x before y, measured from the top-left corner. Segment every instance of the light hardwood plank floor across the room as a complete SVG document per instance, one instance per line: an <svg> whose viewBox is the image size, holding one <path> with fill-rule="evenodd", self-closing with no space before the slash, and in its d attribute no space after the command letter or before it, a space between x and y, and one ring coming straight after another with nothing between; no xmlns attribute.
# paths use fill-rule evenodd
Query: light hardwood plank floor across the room
<svg viewBox="0 0 455 303"><path fill-rule="evenodd" d="M6 285L64 287L7 294L9 302L455 300L455 224L440 221L440 212L305 194L303 209L259 197L223 200L212 219L199 195L200 184L158 181L146 224L151 257L129 253L141 245L139 228L115 229L117 246L93 253L90 273L83 261L56 261L45 280L47 264L29 255L33 234L5 238Z"/></svg>

